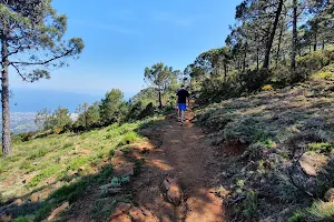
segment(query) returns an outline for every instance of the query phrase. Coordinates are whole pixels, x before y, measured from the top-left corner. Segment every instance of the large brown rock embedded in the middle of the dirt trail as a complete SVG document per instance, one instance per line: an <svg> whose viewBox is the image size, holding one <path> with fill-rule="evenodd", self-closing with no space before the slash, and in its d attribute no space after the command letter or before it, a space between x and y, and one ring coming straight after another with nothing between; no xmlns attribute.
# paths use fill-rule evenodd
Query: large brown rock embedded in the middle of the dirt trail
<svg viewBox="0 0 334 222"><path fill-rule="evenodd" d="M167 199L175 206L178 206L181 202L183 193L175 179L165 179L163 182L163 188L166 191Z"/></svg>

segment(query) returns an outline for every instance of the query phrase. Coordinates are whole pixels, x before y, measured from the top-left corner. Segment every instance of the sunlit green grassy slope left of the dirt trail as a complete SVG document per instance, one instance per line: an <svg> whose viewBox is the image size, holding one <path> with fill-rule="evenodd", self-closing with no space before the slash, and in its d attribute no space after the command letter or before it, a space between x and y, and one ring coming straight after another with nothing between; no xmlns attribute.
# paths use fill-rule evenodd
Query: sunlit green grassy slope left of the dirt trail
<svg viewBox="0 0 334 222"><path fill-rule="evenodd" d="M21 141L18 135L11 157L0 159L1 221L10 220L4 218L7 214L14 221L41 221L56 206L66 201L71 204L91 189L96 192L99 185L126 185L129 178L114 174L111 158L127 144L145 142L138 129L158 119L29 141ZM106 198L106 190L101 188L99 192L99 196ZM106 210L102 202L97 202L92 216L109 216L116 204L117 201ZM106 211L104 215L102 211Z"/></svg>

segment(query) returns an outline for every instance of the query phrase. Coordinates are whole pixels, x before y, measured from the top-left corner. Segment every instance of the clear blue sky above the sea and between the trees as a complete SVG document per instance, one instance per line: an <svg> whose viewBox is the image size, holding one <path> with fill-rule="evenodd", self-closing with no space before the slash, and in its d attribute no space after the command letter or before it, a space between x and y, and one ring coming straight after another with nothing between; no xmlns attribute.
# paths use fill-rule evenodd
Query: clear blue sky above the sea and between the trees
<svg viewBox="0 0 334 222"><path fill-rule="evenodd" d="M145 67L163 61L184 70L202 52L224 46L240 0L53 0L68 16L67 37L86 48L51 80L12 87L102 95L112 88L127 97L140 91Z"/></svg>

